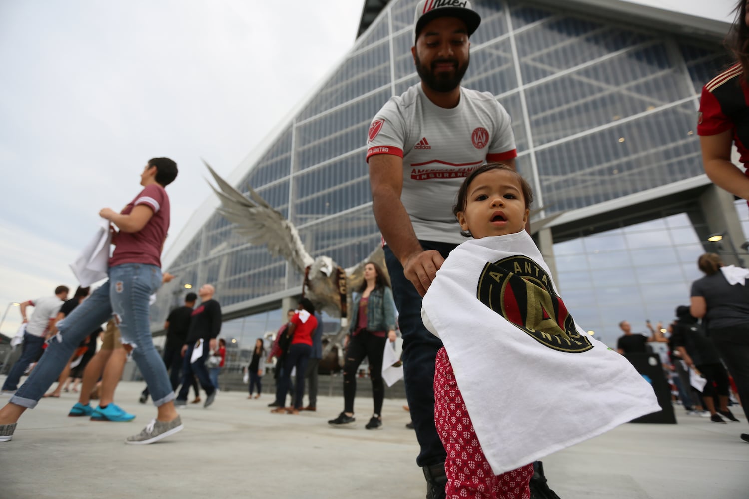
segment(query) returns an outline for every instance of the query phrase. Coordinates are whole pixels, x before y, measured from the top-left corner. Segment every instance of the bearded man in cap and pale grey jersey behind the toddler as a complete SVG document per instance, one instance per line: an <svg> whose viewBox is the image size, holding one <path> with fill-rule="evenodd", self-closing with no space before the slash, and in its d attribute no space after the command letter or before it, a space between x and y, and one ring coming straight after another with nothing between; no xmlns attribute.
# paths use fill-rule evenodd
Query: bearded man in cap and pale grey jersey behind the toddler
<svg viewBox="0 0 749 499"><path fill-rule="evenodd" d="M416 462L428 499L445 497L446 453L434 426L434 360L442 343L422 323L422 296L464 241L452 215L463 178L485 162L515 168L517 156L502 105L460 85L470 60L468 39L480 22L470 1L419 2L411 52L421 82L380 109L367 142L373 210L386 241L406 395L421 447Z"/></svg>

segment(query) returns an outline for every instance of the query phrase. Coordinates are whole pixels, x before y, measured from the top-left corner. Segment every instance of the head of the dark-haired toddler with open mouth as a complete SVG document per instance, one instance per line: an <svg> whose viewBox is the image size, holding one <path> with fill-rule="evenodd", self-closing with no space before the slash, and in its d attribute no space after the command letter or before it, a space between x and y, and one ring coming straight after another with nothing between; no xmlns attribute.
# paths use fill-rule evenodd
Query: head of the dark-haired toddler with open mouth
<svg viewBox="0 0 749 499"><path fill-rule="evenodd" d="M517 174L490 170L476 176L468 186L466 206L458 212L458 221L461 229L470 230L480 239L524 230L529 212Z"/></svg>

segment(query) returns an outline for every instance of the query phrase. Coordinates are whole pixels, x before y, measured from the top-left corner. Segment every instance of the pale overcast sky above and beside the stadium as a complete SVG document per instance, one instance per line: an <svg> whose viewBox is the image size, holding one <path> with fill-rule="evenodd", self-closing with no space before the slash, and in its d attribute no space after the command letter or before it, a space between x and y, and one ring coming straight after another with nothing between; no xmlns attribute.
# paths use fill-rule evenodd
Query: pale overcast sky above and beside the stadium
<svg viewBox="0 0 749 499"><path fill-rule="evenodd" d="M732 1L638 3L727 19ZM1 0L0 314L74 288L98 211L178 162L171 240L354 43L363 0ZM293 6L293 8L292 8ZM12 308L1 331L19 324Z"/></svg>

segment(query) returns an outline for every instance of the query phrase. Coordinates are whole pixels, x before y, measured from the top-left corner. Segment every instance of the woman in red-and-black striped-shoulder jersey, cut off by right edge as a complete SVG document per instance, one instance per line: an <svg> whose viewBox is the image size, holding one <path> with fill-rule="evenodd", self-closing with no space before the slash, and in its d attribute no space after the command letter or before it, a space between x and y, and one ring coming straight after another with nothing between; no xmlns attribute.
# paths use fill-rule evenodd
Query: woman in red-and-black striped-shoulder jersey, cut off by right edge
<svg viewBox="0 0 749 499"><path fill-rule="evenodd" d="M731 144L739 162L749 163L749 17L747 0L736 5L736 20L726 38L736 64L710 80L700 97L700 135L705 173L715 185L749 200L749 177L731 162Z"/></svg>

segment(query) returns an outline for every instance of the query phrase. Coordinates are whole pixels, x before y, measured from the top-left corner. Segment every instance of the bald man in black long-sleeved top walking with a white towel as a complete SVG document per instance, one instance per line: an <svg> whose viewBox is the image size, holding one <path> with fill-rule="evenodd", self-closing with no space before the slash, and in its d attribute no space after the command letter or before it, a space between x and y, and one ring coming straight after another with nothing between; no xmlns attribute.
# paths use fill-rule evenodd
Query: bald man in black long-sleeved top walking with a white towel
<svg viewBox="0 0 749 499"><path fill-rule="evenodd" d="M187 404L187 392L190 387L192 376L198 377L198 382L205 391L206 398L203 407L213 403L216 398L216 387L210 382L208 370L205 367L205 361L210 352L216 349L216 337L221 332L221 305L213 299L213 293L216 291L210 284L204 284L198 290L201 304L195 310L192 310L190 317L189 329L187 331L187 340L182 346L182 355L184 357L182 364L182 388L175 400L176 405ZM192 359L192 352L199 349L198 358Z"/></svg>

